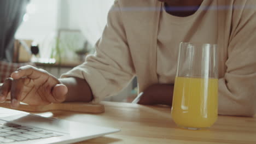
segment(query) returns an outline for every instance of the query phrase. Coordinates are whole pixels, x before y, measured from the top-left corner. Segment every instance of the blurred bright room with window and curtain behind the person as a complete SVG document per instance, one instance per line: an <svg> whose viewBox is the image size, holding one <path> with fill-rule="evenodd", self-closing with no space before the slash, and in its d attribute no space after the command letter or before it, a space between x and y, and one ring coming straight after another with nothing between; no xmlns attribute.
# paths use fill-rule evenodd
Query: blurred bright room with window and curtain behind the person
<svg viewBox="0 0 256 144"><path fill-rule="evenodd" d="M56 77L94 53L114 0L0 0L0 81L31 64ZM109 101L130 102L136 80Z"/></svg>

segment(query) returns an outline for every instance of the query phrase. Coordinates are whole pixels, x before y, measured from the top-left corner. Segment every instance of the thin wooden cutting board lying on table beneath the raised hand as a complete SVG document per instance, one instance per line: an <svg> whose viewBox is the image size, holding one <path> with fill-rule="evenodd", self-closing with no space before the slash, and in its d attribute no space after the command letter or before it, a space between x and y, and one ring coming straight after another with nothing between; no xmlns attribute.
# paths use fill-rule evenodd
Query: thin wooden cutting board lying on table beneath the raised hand
<svg viewBox="0 0 256 144"><path fill-rule="evenodd" d="M5 107L11 109L10 101L5 101L4 103L0 103L1 107ZM104 112L104 105L102 104L89 104L89 103L60 103L60 104L49 104L49 105L28 105L25 103L20 103L18 109L20 111L27 111L27 112L46 112L46 111L73 111L73 112L86 112L86 113L103 113Z"/></svg>

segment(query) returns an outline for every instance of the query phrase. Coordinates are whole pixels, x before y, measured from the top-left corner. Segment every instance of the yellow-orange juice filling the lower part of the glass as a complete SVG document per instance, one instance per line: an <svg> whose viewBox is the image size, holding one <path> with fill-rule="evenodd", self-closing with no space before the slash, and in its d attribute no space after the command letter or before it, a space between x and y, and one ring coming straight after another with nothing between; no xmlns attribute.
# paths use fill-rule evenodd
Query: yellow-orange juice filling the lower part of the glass
<svg viewBox="0 0 256 144"><path fill-rule="evenodd" d="M218 117L218 79L176 77L173 121L185 128L208 128Z"/></svg>

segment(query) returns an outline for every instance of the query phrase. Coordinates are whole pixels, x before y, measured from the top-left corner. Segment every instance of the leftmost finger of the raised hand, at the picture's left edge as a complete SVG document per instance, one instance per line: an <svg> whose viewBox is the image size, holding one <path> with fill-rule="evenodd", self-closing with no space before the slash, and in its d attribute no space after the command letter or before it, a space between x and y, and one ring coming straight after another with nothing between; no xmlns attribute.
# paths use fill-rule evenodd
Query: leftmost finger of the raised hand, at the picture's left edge
<svg viewBox="0 0 256 144"><path fill-rule="evenodd" d="M5 79L3 85L0 87L0 101L3 102L6 100L8 93L11 89L12 78Z"/></svg>

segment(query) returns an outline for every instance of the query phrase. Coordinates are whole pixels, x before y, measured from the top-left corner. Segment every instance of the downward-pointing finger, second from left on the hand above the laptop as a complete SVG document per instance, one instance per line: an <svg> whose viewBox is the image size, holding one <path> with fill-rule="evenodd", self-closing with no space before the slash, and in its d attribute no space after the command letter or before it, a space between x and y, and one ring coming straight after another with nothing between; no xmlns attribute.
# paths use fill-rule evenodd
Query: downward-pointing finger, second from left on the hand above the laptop
<svg viewBox="0 0 256 144"><path fill-rule="evenodd" d="M23 87L24 87L24 79L18 79L18 80L12 81L11 89L10 89L11 107L13 108L19 107Z"/></svg>

